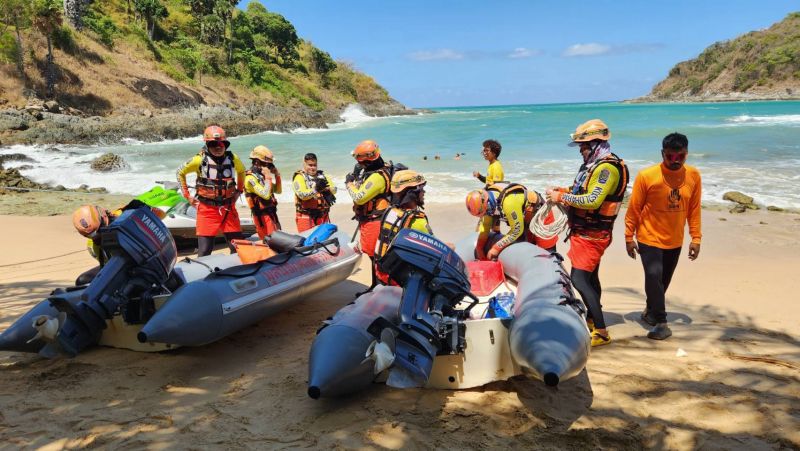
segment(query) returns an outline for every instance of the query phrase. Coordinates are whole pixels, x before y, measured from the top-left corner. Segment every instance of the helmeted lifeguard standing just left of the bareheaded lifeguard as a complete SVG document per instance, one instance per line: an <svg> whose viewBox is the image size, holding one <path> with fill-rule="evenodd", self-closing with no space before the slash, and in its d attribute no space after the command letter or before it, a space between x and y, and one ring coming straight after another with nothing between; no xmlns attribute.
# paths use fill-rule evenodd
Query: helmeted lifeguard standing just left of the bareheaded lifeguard
<svg viewBox="0 0 800 451"><path fill-rule="evenodd" d="M250 161L252 166L244 178L244 197L250 206L256 233L263 240L265 236L281 229L278 221L278 199L275 197L283 192L281 173L275 167L275 156L266 146L253 148Z"/></svg>

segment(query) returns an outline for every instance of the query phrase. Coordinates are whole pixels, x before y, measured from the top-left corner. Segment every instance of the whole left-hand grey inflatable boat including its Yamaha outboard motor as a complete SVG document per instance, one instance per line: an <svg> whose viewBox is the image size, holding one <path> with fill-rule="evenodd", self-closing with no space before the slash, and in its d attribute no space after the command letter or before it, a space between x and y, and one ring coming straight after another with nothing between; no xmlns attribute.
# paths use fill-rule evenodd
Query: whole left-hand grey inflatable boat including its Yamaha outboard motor
<svg viewBox="0 0 800 451"><path fill-rule="evenodd" d="M174 242L148 209L124 213L108 229L101 242L113 256L95 279L55 290L0 334L0 350L53 357L95 344L201 346L347 279L361 258L335 232L256 263L242 264L237 254L175 263Z"/></svg>

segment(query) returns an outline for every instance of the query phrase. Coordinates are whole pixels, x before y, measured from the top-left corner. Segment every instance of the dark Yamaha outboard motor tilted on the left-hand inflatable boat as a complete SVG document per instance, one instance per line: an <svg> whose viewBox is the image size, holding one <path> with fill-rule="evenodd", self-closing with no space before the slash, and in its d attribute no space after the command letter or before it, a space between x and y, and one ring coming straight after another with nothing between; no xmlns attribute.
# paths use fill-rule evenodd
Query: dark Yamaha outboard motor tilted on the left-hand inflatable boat
<svg viewBox="0 0 800 451"><path fill-rule="evenodd" d="M122 311L135 322L142 309L134 313L124 307L132 298L152 299L162 292L177 259L169 229L149 208L125 211L99 235L100 247L111 257L81 294L81 302L50 298L53 307L66 313L56 342L71 356L96 344L113 315Z"/></svg>

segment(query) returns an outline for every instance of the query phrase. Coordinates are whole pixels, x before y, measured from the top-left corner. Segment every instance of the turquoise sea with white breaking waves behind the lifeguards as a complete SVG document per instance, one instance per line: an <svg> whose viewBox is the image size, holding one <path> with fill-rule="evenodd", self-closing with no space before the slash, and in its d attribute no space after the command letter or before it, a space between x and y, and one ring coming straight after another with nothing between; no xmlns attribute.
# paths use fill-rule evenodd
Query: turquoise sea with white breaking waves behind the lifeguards
<svg viewBox="0 0 800 451"><path fill-rule="evenodd" d="M285 177L281 198L290 201L288 178L300 167L303 154L317 153L320 167L343 187L344 175L354 163L350 151L361 140L374 139L387 159L426 176L429 202L460 202L468 190L479 186L472 171L486 171L480 151L487 138L503 145L500 160L507 179L536 190L568 185L580 165L578 151L566 146L569 134L577 124L592 118L606 121L612 131L612 149L634 174L659 162L661 139L679 131L689 137L689 164L702 173L704 202L721 203L725 191L737 190L762 205L800 208L800 102L460 107L386 118L366 116L351 106L342 114L342 122L327 129L236 137L231 140L231 150L246 160L258 144L272 149ZM23 173L38 182L67 187L86 183L113 192L137 193L155 180L174 180L176 168L200 148L199 132L195 138L179 141L58 146L61 152L48 151L47 146L13 146L0 153L29 154L36 163ZM109 151L122 155L132 169L113 174L92 172L88 162ZM465 155L454 160L456 153ZM435 155L441 159L435 160ZM347 196L340 196L345 201L342 197Z"/></svg>

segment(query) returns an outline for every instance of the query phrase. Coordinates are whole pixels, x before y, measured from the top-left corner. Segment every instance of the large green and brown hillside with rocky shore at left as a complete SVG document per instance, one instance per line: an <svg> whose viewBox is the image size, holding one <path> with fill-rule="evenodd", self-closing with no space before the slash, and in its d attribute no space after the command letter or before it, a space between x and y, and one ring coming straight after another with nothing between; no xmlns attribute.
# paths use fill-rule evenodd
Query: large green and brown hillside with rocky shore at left
<svg viewBox="0 0 800 451"><path fill-rule="evenodd" d="M239 0L3 0L0 144L231 135L414 114L370 76Z"/></svg>

